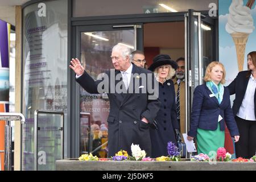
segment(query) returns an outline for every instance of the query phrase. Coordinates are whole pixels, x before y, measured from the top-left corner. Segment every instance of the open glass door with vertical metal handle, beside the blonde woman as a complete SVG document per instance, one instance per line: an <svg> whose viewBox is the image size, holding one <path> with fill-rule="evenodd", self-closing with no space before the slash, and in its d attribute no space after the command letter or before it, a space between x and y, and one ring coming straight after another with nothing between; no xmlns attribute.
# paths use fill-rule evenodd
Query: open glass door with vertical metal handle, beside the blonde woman
<svg viewBox="0 0 256 182"><path fill-rule="evenodd" d="M207 65L214 61L214 20L194 10L188 10L185 23L185 129L189 131L189 118L196 86L204 83Z"/></svg>

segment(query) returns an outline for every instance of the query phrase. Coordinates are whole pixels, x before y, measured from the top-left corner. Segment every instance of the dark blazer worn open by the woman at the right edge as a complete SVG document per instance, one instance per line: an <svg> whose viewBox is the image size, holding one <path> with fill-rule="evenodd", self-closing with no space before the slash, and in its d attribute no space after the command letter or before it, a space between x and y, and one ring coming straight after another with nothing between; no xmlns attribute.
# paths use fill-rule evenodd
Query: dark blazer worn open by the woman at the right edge
<svg viewBox="0 0 256 182"><path fill-rule="evenodd" d="M237 77L228 86L230 95L236 94L236 98L233 101L233 107L232 107L234 115L237 115L240 109L240 106L242 104L243 97L245 97L245 92L250 79L250 75L251 75L251 71L239 72ZM254 106L255 104L256 104L256 94L254 94ZM254 107L254 114L256 117L256 107Z"/></svg>

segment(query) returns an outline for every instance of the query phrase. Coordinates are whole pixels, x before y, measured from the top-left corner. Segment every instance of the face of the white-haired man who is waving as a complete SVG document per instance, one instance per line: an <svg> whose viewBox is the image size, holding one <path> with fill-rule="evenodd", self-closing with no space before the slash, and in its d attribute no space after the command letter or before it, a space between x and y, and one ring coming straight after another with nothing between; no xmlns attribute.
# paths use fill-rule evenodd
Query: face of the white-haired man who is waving
<svg viewBox="0 0 256 182"><path fill-rule="evenodd" d="M119 51L112 51L111 54L112 63L114 65L114 68L118 71L126 71L127 68L129 68L129 56L126 56L125 59L123 59L121 53Z"/></svg>

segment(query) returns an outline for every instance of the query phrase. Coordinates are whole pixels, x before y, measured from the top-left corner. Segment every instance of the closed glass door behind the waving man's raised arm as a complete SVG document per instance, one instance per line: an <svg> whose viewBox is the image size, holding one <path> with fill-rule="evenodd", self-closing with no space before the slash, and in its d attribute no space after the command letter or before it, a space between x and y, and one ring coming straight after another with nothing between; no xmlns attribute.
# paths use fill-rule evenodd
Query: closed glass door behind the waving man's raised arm
<svg viewBox="0 0 256 182"><path fill-rule="evenodd" d="M110 59L112 48L123 44L134 51L137 46L137 33L142 32L138 24L82 26L76 28L76 57L94 80L100 73L114 68ZM139 33L141 34L141 33ZM142 41L139 41L142 42ZM82 154L97 155L99 158L108 156L108 115L110 103L106 94L90 94L79 86L79 123L76 126L79 138L79 150ZM76 92L77 93L77 92ZM77 98L78 99L78 98Z"/></svg>

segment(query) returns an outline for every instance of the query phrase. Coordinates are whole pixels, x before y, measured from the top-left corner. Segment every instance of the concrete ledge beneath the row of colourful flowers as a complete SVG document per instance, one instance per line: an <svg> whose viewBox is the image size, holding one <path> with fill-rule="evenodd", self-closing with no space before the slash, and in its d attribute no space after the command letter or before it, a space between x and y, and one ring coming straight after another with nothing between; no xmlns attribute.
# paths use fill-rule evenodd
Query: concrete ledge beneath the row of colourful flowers
<svg viewBox="0 0 256 182"><path fill-rule="evenodd" d="M183 159L184 160L184 159ZM255 171L256 162L142 162L56 160L57 171Z"/></svg>

